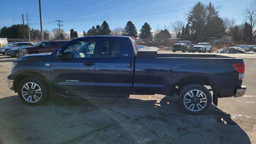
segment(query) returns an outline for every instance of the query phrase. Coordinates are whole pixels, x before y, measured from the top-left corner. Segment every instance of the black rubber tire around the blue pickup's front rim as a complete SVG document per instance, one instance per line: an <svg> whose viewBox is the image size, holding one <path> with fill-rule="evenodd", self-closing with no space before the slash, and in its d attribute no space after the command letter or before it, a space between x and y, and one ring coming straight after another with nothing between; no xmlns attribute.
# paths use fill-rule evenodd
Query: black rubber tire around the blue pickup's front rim
<svg viewBox="0 0 256 144"><path fill-rule="evenodd" d="M29 102L28 100L26 100L23 96L22 96L22 88L23 86L28 83L28 82L33 82L35 84L37 84L39 86L39 88L41 88L41 96L39 97L40 99L38 101L36 101L35 97L31 99L28 98L30 95L26 95L24 96L25 98L27 98L28 100L30 99L31 101L34 99L36 102ZM32 87L32 86L31 86ZM24 89L24 88L23 88ZM24 89L25 90L25 89ZM39 89L38 89L39 90ZM19 85L18 85L18 96L20 97L20 100L22 100L22 102L24 102L25 104L29 105L29 106L39 106L41 104L43 104L44 102L46 102L46 100L48 100L48 98L50 97L48 95L46 86L38 79L36 78L25 78L24 80L22 80ZM34 94L36 95L36 94Z"/></svg>

